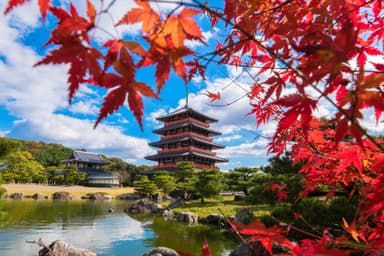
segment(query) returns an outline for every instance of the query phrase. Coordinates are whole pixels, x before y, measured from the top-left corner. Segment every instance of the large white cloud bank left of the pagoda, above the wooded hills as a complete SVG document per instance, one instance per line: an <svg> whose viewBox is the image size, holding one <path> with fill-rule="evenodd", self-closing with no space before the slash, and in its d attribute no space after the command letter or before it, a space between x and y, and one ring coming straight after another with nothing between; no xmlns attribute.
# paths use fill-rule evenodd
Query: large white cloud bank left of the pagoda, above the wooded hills
<svg viewBox="0 0 384 256"><path fill-rule="evenodd" d="M4 4L0 4L0 9ZM134 162L153 151L146 139L128 136L122 128L101 124L93 129L94 120L80 119L75 114L95 114L100 96L84 86L76 102L68 106L65 65L33 68L41 56L21 43L24 31L18 20L31 28L38 20L38 10L26 13L15 9L12 16L0 16L0 104L18 120L0 136L56 142L71 148L85 148ZM22 18L20 15L24 15ZM26 17L25 15L29 15ZM12 49L11 51L9 49ZM64 112L72 111L72 116Z"/></svg>

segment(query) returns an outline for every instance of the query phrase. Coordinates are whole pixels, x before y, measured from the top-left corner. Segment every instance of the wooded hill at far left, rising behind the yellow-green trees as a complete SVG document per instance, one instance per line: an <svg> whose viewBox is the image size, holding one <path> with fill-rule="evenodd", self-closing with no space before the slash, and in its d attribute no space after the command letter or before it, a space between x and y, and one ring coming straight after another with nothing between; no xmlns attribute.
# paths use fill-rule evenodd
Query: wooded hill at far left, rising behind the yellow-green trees
<svg viewBox="0 0 384 256"><path fill-rule="evenodd" d="M0 138L0 159L11 152L28 151L42 166L59 166L72 154L72 149L56 143Z"/></svg>

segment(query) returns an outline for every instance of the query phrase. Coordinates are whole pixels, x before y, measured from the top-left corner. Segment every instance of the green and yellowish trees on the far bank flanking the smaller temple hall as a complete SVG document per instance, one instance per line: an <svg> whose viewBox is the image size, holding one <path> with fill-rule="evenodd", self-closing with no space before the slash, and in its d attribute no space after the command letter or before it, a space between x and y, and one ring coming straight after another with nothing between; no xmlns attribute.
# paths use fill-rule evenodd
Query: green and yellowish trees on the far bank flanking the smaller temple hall
<svg viewBox="0 0 384 256"><path fill-rule="evenodd" d="M6 183L42 183L73 185L86 180L85 173L63 164L73 149L55 143L0 138L0 177ZM147 166L135 166L117 157L104 157L106 171L118 173L125 185Z"/></svg>

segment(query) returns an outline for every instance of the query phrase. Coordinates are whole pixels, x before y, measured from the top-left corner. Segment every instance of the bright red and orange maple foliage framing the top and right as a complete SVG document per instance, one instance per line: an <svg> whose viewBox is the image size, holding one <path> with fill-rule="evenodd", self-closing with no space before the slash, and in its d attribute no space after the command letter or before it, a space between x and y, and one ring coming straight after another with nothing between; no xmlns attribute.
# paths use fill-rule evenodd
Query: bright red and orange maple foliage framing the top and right
<svg viewBox="0 0 384 256"><path fill-rule="evenodd" d="M8 0L4 12L25 2ZM220 7L192 0L175 2L167 13L148 1L135 2L137 7L127 10L116 26L141 23L141 37L116 37L96 45L92 32L100 29L97 17L108 13L109 5L96 10L86 0L83 17L74 4L38 0L43 20L53 15L57 24L46 43L53 50L36 65L69 64L69 101L84 83L109 90L95 127L125 102L142 126L142 97L158 98L172 70L187 83L195 75L205 78L213 62L256 68L256 75L249 73L254 79L247 93L249 114L257 125L277 122L269 151L280 155L291 149L305 175L302 196L324 184L331 188L327 199L341 187L353 188L350 196L359 198L355 218L340 220L349 236L333 237L325 230L321 237L290 246L292 253L336 255L350 249L382 254L384 142L362 126L371 112L381 124L384 111L384 64L378 61L383 59L382 1L225 0ZM186 45L187 40L204 41L197 15L226 33L204 54ZM156 90L136 79L136 72L148 66L155 67ZM207 96L212 102L221 98L220 92ZM314 115L322 101L334 109L327 120ZM284 197L284 186L271 188ZM260 224L252 230L248 233L256 240L264 237L260 241L268 251L271 241L288 244L277 230L266 232Z"/></svg>

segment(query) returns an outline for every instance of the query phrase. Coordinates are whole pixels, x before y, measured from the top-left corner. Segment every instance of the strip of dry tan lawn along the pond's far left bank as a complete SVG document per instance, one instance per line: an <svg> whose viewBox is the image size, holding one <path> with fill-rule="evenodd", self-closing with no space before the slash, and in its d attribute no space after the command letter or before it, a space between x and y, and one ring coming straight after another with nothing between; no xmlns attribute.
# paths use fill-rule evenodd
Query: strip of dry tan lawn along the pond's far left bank
<svg viewBox="0 0 384 256"><path fill-rule="evenodd" d="M125 194L133 193L134 189L131 187L125 188L108 188L108 187L84 187L84 186L49 186L40 184L3 184L1 185L7 190L7 194L21 192L24 196L32 196L35 193L51 196L58 191L68 192L74 199L80 199L81 196L85 196L88 193L107 193L113 197Z"/></svg>

